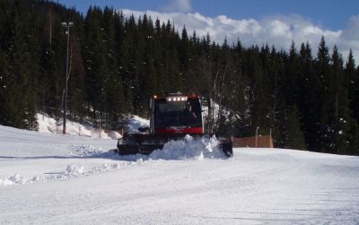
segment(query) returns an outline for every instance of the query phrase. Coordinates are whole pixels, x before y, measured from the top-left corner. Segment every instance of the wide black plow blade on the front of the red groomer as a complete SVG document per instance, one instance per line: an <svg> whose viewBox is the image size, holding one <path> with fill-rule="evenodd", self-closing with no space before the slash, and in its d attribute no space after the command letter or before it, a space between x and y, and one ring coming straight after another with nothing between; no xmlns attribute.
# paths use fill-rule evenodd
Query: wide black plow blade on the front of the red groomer
<svg viewBox="0 0 359 225"><path fill-rule="evenodd" d="M155 150L162 150L165 143L182 140L185 134L127 134L123 139L118 140L117 152L119 155L149 155ZM201 138L206 135L195 135L194 138ZM227 157L233 156L232 141L230 138L219 137L219 148Z"/></svg>

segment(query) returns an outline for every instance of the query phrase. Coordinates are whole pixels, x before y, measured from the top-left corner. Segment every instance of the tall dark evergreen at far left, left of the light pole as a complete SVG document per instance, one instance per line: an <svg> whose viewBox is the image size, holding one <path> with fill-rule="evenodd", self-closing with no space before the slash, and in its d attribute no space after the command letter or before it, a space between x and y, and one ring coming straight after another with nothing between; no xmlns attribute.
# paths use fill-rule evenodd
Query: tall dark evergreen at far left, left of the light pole
<svg viewBox="0 0 359 225"><path fill-rule="evenodd" d="M19 128L36 129L36 73L33 73L36 61L31 57L31 33L27 22L30 14L25 1L14 5L13 38L9 46L9 58L13 62L9 67L9 86L6 108L8 110L5 125Z"/></svg>

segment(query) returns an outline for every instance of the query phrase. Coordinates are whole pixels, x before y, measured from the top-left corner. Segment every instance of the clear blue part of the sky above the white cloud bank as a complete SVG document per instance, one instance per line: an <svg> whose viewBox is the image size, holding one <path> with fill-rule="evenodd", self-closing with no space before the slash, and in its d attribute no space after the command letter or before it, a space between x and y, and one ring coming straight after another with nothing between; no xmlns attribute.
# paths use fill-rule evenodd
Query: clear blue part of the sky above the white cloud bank
<svg viewBox="0 0 359 225"><path fill-rule="evenodd" d="M109 5L118 9L160 11L170 0L59 0L60 4L75 6L85 13L90 5ZM358 0L193 0L187 13L215 17L227 15L233 19L261 19L263 16L299 14L330 30L346 25L352 15L359 14Z"/></svg>

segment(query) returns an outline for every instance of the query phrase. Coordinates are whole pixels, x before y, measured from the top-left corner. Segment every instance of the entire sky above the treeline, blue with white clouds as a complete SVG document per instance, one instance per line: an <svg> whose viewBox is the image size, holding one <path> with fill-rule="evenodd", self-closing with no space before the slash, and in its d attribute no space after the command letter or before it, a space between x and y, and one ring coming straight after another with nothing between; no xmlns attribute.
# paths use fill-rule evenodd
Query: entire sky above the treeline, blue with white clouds
<svg viewBox="0 0 359 225"><path fill-rule="evenodd" d="M329 49L346 58L350 49L359 62L359 0L54 0L86 13L90 5L111 6L125 16L144 13L153 20L170 20L180 31L197 36L209 33L217 43L241 39L244 46L268 44L288 49L292 41L311 44L313 53L321 37Z"/></svg>

